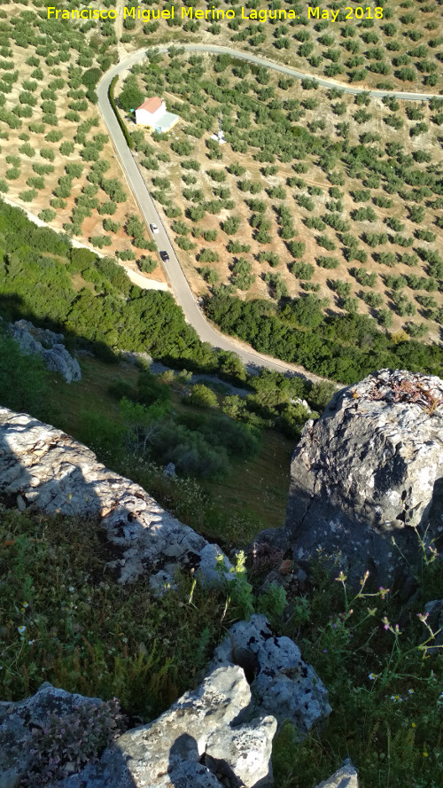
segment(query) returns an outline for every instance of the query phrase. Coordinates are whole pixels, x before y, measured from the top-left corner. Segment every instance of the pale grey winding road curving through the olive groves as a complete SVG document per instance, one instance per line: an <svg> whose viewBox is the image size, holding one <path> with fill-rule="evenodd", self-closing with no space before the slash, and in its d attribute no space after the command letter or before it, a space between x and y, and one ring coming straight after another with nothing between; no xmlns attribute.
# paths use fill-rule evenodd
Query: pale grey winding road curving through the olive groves
<svg viewBox="0 0 443 788"><path fill-rule="evenodd" d="M392 96L395 98L405 98L411 101L424 101L430 98L436 98L434 94L428 93L401 93L399 91L385 90L364 91L361 88L351 88L347 85L341 85L338 82L333 82L332 80L319 79L317 77L313 77L311 74L303 74L302 72L296 71L294 68L282 66L270 60L259 58L255 55L249 54L248 52L237 51L231 49L230 47L217 46L216 44L182 44L180 42L175 42L162 44L161 46L155 47L155 49L159 52L166 52L171 46L179 46L185 51L191 52L228 54L232 58L247 60L256 66L266 66L267 68L271 68L274 71L280 72L281 74L287 74L288 76L295 77L296 79L313 79L320 85L328 88L335 87L343 90L346 93L356 94L368 92L370 96L378 98ZM165 250L167 254L169 254L169 260L164 261L163 265L166 269L167 277L175 294L175 300L183 308L186 320L196 330L199 338L202 341L208 342L213 347L219 347L221 350L228 350L230 352L236 353L245 364L248 371L257 371L257 369L261 367L267 367L268 369L279 372L299 374L304 378L312 380L313 382L324 379L314 375L311 372L308 372L304 367L298 366L297 364L282 362L278 359L271 358L270 356L256 353L245 343L240 342L237 339L226 337L224 334L221 334L221 332L216 331L214 327L207 322L206 317L198 308L198 304L196 303L196 300L190 290L190 285L188 285L187 279L183 274L180 261L175 254L174 246L168 238L167 230L159 216L151 194L144 183L144 179L139 171L139 168L137 167L136 154L129 150L117 119L113 113L113 109L109 103L108 90L113 77L143 60L146 57L146 52L146 48L143 50L137 50L136 52L128 55L128 57L121 59L119 63L116 64L116 66L113 66L108 72L106 72L97 85L98 107L105 122L105 126L109 131L109 135L113 140L115 152L118 159L120 160L120 164L125 173L128 185L134 194L138 206L140 207L144 221L147 225L155 223L159 226L159 234L156 234L154 239L157 242L159 249Z"/></svg>

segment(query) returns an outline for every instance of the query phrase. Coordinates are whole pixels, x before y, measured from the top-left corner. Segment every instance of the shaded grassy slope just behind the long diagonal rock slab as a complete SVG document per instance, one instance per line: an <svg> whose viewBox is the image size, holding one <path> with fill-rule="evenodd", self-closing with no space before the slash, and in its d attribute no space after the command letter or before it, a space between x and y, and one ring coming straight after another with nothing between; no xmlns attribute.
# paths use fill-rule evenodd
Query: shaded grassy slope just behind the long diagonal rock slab
<svg viewBox="0 0 443 788"><path fill-rule="evenodd" d="M66 386L55 376L51 378L51 399L58 403L55 421L66 433L97 451L101 462L137 481L158 497L165 508L172 509L206 536L220 538L221 542L238 547L252 540L260 528L283 525L294 441L273 430L263 431L257 454L231 462L227 477L199 482L190 480L187 485L189 504L195 495L198 502L184 505L184 483L180 493L175 495L174 482L165 480L151 464L132 462L113 447L113 440L106 441L106 423L110 427L122 425L118 402L108 393L108 386L118 378L136 385L136 368L88 357L82 359L81 365L79 383ZM182 405L176 394L174 407L179 412L194 410L198 413L198 409ZM204 509L203 517L199 506Z"/></svg>

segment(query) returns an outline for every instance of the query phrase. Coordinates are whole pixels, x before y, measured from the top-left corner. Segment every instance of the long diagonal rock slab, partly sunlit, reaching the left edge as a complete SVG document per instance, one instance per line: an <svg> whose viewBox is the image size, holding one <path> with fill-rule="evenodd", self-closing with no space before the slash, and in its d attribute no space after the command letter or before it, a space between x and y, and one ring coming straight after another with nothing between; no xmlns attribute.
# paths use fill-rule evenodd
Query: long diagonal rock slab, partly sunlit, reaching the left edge
<svg viewBox="0 0 443 788"><path fill-rule="evenodd" d="M108 563L120 582L150 576L152 589L174 583L177 566L215 571L217 545L159 506L138 484L97 462L95 454L66 433L27 414L0 408L0 496L21 511L101 519L119 558ZM230 564L224 558L227 570Z"/></svg>

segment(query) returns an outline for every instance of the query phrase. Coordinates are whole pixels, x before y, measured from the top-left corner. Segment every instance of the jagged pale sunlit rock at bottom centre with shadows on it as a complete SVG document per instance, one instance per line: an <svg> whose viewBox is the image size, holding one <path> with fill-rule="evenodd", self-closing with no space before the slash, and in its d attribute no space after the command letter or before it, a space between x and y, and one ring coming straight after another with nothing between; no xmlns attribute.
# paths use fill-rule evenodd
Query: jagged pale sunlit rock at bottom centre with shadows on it
<svg viewBox="0 0 443 788"><path fill-rule="evenodd" d="M50 788L271 786L276 720L236 725L251 690L239 667L221 667L148 725L128 730L77 775Z"/></svg>

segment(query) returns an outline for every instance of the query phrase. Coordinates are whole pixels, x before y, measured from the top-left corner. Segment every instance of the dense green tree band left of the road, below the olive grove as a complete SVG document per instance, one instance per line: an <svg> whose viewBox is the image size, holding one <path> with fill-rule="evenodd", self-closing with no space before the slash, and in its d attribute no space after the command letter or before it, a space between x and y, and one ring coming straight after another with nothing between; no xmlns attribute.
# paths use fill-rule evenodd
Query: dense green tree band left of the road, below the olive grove
<svg viewBox="0 0 443 788"><path fill-rule="evenodd" d="M86 285L74 289L72 277ZM186 324L172 296L131 285L112 258L74 249L69 239L37 228L17 208L0 203L0 293L9 319L29 316L68 331L111 355L117 347L149 351L196 367L214 366L210 347ZM109 348L106 352L106 348Z"/></svg>

